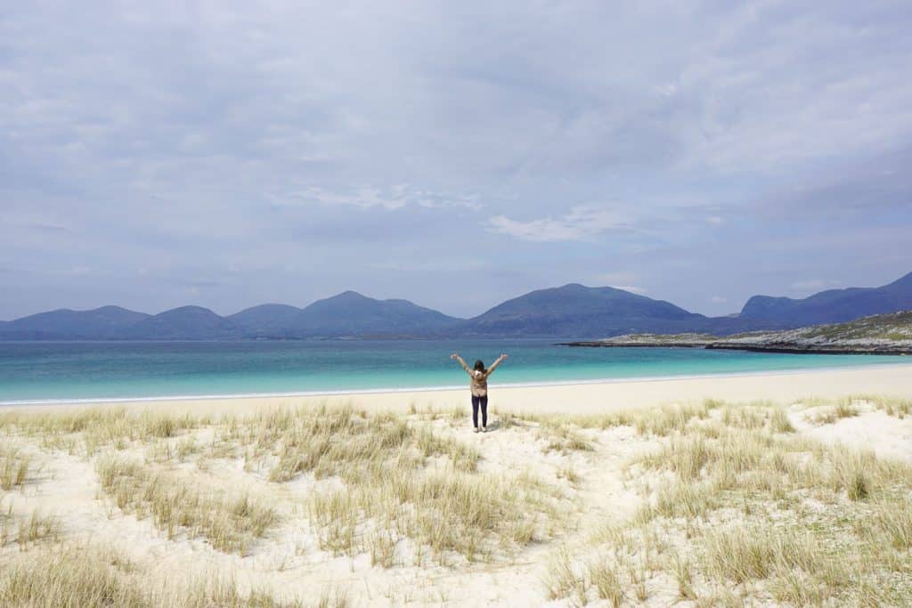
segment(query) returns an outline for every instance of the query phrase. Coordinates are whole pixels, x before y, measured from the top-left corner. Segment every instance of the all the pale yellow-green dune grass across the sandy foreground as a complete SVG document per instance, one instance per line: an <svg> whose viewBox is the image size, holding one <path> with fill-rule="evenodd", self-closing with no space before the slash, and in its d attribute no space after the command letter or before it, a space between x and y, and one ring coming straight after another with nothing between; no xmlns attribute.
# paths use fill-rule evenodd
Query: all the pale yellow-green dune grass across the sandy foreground
<svg viewBox="0 0 912 608"><path fill-rule="evenodd" d="M262 495L220 488L229 469L263 495L285 497L292 506L282 520L300 518L309 542L352 564L358 556L380 569L523 564L520 556L533 554L524 550L556 538L542 569L544 596L575 605L912 603L912 467L804 438L793 425L806 414L819 424L872 410L902 418L908 401L808 404L803 413L707 400L584 417L500 416L508 432L484 440L533 443L523 454L538 461L536 474L523 463L495 466L472 435L454 430L464 412L431 407L407 415L289 407L217 419L123 409L5 414L0 434L88 459L119 510L150 518L169 539L202 538L240 556L273 543L280 520ZM620 446L631 455L625 496L635 492L638 509L576 529L599 491L600 459ZM35 471L47 455L26 456L33 453L0 448L0 507L2 492L22 496L46 481ZM212 471L197 475L193 459ZM265 589L239 593L217 576L150 586L139 565L97 547L80 555L67 539L48 542L60 536L53 518L17 515L6 504L0 548L18 543L21 555L0 566L0 605L302 605ZM347 598L317 589L307 599Z"/></svg>

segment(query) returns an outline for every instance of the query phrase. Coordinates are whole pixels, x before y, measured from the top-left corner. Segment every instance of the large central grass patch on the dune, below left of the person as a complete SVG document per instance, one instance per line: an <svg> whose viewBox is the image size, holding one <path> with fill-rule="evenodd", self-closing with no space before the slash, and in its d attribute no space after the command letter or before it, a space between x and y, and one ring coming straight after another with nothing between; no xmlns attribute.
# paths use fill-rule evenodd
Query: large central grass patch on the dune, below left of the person
<svg viewBox="0 0 912 608"><path fill-rule="evenodd" d="M404 539L416 562L453 554L495 559L543 534L540 524L557 512L556 490L538 479L480 473L477 449L394 415L350 407L275 411L245 420L233 440L272 459L272 481L339 479L341 487L306 500L320 546L370 552L384 567L397 563Z"/></svg>

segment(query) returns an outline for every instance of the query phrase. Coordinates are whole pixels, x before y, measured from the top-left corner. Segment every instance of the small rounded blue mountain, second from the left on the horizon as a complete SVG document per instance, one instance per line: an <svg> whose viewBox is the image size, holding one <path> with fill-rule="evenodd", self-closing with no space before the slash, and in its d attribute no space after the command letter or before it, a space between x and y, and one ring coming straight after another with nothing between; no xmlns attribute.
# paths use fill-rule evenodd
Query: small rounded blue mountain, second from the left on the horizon
<svg viewBox="0 0 912 608"><path fill-rule="evenodd" d="M134 340L222 340L239 338L241 328L200 306L181 306L125 328L118 337Z"/></svg>

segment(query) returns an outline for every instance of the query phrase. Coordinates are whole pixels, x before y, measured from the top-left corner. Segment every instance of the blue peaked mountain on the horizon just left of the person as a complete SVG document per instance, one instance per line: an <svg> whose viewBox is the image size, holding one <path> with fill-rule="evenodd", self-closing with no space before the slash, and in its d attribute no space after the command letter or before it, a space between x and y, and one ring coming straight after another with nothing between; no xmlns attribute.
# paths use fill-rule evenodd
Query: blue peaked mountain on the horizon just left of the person
<svg viewBox="0 0 912 608"><path fill-rule="evenodd" d="M375 300L348 291L307 306L293 332L300 337L442 335L460 322L408 300Z"/></svg>

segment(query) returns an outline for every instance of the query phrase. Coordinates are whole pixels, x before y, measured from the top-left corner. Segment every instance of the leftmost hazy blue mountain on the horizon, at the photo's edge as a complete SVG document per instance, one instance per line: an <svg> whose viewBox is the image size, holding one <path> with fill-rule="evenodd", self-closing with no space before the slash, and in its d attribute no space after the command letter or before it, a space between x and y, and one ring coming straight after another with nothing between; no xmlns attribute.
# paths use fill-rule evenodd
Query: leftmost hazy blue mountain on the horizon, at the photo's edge
<svg viewBox="0 0 912 608"><path fill-rule="evenodd" d="M149 317L149 314L102 306L94 310L62 308L32 314L0 325L0 339L5 340L100 340L115 338L120 333Z"/></svg>

